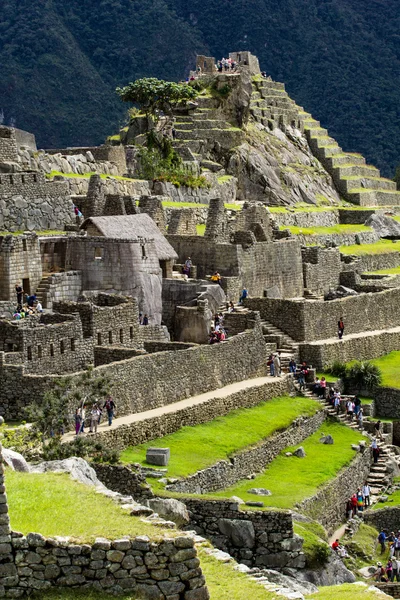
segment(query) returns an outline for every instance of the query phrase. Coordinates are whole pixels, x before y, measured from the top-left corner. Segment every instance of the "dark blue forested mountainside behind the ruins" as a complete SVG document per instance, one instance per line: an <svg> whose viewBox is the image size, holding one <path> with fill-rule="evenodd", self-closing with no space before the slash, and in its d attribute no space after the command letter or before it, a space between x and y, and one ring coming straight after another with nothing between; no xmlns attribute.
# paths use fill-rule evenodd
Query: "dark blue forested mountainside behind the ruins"
<svg viewBox="0 0 400 600"><path fill-rule="evenodd" d="M0 111L41 146L96 144L125 108L114 88L179 79L196 53L248 49L384 174L400 162L396 0L1 0Z"/></svg>

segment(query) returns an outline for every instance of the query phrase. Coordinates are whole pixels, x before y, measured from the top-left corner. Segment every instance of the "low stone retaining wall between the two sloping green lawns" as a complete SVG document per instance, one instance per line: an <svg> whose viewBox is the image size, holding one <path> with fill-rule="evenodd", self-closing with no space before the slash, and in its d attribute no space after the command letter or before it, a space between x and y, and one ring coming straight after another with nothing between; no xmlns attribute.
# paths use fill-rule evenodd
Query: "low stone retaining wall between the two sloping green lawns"
<svg viewBox="0 0 400 600"><path fill-rule="evenodd" d="M263 440L256 447L246 449L229 460L220 460L212 467L197 471L168 490L183 494L206 494L223 490L250 473L260 473L288 446L295 446L317 431L326 419L324 410L309 418L299 417L285 429ZM298 460L298 459L295 459Z"/></svg>

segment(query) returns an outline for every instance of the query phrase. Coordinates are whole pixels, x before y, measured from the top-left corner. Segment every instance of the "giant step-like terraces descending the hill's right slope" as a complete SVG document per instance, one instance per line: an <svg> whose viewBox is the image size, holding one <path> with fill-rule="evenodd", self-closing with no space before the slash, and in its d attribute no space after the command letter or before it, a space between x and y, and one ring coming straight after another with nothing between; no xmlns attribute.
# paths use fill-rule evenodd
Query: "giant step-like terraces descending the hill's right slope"
<svg viewBox="0 0 400 600"><path fill-rule="evenodd" d="M340 194L360 206L400 204L396 183L380 176L376 167L367 165L361 154L344 152L319 121L299 107L302 128L314 156L330 173Z"/></svg>

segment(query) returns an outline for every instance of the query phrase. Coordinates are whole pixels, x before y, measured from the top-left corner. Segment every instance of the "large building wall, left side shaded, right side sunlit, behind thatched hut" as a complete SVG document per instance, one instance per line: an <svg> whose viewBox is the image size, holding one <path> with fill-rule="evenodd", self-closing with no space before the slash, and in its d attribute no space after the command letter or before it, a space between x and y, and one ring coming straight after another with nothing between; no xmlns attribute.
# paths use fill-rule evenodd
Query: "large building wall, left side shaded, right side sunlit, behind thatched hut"
<svg viewBox="0 0 400 600"><path fill-rule="evenodd" d="M167 239L178 253L179 262L191 257L201 279L219 271L223 280L224 276L238 277L253 296L262 296L273 286L278 287L282 297L303 295L301 252L296 240L259 242L244 249L204 237L168 235Z"/></svg>

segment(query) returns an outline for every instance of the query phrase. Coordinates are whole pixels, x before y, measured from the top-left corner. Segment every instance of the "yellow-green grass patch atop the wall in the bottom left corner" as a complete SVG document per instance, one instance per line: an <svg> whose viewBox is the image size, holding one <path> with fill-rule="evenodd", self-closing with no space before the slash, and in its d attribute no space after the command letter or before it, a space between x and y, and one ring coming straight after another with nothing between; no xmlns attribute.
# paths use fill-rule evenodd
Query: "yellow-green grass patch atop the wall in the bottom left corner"
<svg viewBox="0 0 400 600"><path fill-rule="evenodd" d="M6 487L15 531L71 536L88 542L123 535L154 538L158 533L158 528L129 516L110 498L64 473L7 470Z"/></svg>

